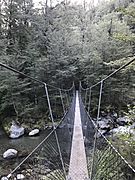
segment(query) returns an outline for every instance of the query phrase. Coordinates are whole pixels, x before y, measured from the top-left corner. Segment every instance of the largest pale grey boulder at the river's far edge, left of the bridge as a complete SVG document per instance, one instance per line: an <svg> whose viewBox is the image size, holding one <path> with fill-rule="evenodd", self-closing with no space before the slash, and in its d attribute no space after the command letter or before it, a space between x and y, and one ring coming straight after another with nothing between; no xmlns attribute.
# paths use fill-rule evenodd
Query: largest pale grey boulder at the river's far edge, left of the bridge
<svg viewBox="0 0 135 180"><path fill-rule="evenodd" d="M24 128L18 126L16 123L12 122L11 128L10 128L10 138L19 138L24 134Z"/></svg>

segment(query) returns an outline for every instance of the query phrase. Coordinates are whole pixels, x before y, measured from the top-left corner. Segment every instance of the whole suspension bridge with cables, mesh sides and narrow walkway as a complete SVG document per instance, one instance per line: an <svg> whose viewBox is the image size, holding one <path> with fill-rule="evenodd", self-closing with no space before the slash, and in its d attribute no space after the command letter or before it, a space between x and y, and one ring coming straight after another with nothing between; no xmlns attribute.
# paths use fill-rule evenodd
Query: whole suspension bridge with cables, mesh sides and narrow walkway
<svg viewBox="0 0 135 180"><path fill-rule="evenodd" d="M17 161L15 167L11 166L9 174L2 175L1 179L15 179L17 174L24 174L25 179L30 180L134 180L135 169L97 126L105 81L134 61L132 59L89 88L84 89L80 83L79 91L75 90L74 84L70 89L60 89L0 63L2 68L41 85L43 96L38 102L41 106L45 103L53 126L28 156ZM100 88L97 118L93 121L89 112L92 89L96 86ZM52 103L54 97L50 93L56 96L57 103L61 105L61 118L57 124L57 104Z"/></svg>

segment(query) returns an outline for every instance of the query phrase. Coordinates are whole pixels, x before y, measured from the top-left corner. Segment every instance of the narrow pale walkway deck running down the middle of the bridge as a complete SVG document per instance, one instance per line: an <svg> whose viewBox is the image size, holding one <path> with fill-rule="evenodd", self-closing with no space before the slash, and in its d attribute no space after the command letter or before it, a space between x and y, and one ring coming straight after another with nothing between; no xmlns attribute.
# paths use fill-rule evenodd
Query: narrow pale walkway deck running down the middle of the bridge
<svg viewBox="0 0 135 180"><path fill-rule="evenodd" d="M76 93L76 107L68 180L88 179L87 161L82 132L79 97Z"/></svg>

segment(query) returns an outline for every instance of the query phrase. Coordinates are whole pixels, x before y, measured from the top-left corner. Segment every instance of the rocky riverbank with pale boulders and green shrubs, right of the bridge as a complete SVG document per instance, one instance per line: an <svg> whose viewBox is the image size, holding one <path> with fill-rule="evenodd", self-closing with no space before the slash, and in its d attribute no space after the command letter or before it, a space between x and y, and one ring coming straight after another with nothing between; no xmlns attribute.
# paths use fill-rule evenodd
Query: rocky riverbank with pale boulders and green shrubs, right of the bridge
<svg viewBox="0 0 135 180"><path fill-rule="evenodd" d="M132 116L133 117L133 116ZM93 119L96 124L96 119ZM135 119L103 113L97 123L98 138L103 134L135 168Z"/></svg>

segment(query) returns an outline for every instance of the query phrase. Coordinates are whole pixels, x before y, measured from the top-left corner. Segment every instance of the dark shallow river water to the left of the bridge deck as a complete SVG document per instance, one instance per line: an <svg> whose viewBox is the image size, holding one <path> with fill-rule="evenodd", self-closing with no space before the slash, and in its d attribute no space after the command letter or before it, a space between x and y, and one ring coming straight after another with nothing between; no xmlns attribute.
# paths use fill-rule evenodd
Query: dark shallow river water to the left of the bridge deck
<svg viewBox="0 0 135 180"><path fill-rule="evenodd" d="M5 135L2 132L2 130L0 130L0 177L3 175L9 174L26 156L24 155L23 158L19 157L13 160L5 160L3 159L3 153L7 149L14 148L19 153L25 152L28 155L49 133L50 133L50 130L46 129L40 132L39 136L34 136L34 137L22 136L18 139L10 139L8 138L7 135ZM70 154L71 142L69 140L69 137L66 136L66 134L64 133L62 129L58 129L57 134L58 134L58 139L59 139L62 152L64 153L66 152L66 154ZM51 153L52 153L51 148L53 147L57 149L57 144L56 144L55 136L51 136L50 139L51 140L49 140L49 143L50 143L49 154L51 156ZM43 147L45 148L45 146Z"/></svg>

